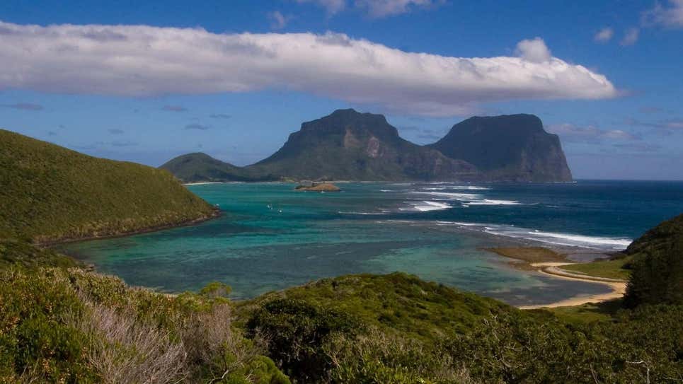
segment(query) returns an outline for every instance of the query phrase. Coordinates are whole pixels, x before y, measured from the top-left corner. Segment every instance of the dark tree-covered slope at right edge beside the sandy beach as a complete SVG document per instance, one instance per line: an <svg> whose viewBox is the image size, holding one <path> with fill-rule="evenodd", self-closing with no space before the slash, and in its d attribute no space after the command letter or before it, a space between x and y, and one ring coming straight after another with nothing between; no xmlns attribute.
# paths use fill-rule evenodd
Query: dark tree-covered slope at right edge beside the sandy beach
<svg viewBox="0 0 683 384"><path fill-rule="evenodd" d="M683 214L664 221L626 249L632 257L624 303L683 304Z"/></svg>

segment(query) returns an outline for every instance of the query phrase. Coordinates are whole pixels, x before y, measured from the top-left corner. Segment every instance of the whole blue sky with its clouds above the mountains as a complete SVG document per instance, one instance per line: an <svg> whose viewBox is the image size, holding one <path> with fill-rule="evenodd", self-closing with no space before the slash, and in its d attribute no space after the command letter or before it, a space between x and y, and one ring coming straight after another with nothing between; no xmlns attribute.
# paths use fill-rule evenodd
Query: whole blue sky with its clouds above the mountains
<svg viewBox="0 0 683 384"><path fill-rule="evenodd" d="M683 179L681 0L107 3L0 3L0 127L149 165L245 165L337 108L418 144L525 112L575 178Z"/></svg>

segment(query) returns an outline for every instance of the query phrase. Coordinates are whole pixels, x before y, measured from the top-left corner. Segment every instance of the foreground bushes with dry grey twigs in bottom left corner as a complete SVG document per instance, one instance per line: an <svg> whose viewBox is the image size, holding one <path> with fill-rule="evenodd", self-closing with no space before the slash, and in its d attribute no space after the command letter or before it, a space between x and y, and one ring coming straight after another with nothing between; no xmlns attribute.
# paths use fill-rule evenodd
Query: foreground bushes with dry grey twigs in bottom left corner
<svg viewBox="0 0 683 384"><path fill-rule="evenodd" d="M0 382L289 380L215 296L163 296L81 269L0 273Z"/></svg>

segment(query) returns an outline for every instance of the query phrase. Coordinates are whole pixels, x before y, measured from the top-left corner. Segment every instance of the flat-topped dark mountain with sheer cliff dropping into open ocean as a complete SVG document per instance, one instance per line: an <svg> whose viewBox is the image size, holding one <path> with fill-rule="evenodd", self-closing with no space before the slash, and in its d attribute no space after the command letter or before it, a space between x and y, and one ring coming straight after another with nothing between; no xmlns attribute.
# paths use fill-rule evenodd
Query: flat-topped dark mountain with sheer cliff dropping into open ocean
<svg viewBox="0 0 683 384"><path fill-rule="evenodd" d="M488 180L572 180L560 139L534 115L470 117L430 146L472 163Z"/></svg>

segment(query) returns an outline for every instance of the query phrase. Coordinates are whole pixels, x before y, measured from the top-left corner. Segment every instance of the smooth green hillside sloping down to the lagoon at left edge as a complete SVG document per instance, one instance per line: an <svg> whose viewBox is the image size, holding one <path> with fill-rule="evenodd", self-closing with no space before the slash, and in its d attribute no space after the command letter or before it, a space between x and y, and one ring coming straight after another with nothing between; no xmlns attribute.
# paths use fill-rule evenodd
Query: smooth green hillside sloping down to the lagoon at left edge
<svg viewBox="0 0 683 384"><path fill-rule="evenodd" d="M93 158L0 129L0 238L49 242L207 219L166 170Z"/></svg>

